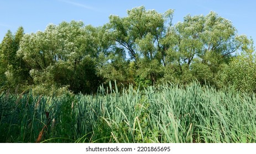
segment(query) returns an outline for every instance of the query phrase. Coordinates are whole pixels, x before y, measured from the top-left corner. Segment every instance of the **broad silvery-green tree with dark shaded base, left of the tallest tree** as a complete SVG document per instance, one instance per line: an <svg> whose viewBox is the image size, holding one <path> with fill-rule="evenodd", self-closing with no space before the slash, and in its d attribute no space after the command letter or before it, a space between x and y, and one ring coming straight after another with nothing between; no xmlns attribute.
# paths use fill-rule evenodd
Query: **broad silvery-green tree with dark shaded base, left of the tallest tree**
<svg viewBox="0 0 256 154"><path fill-rule="evenodd" d="M18 55L28 64L34 87L42 91L46 91L43 87L69 87L75 93L96 91L101 83L96 73L101 47L95 36L97 29L84 26L82 21L51 24L45 31L25 34Z"/></svg>

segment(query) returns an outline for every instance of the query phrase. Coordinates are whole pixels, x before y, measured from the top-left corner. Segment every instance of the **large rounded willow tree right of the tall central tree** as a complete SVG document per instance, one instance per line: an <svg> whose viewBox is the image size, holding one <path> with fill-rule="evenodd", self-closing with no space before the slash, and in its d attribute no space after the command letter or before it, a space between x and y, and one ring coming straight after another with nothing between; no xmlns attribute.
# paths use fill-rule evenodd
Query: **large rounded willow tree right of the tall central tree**
<svg viewBox="0 0 256 154"><path fill-rule="evenodd" d="M183 22L170 27L163 42L169 47L166 63L175 72L170 75L166 70L165 76L173 81L181 79L181 83L197 79L201 84L213 84L221 64L228 63L243 45L231 21L215 12L206 16L187 15Z"/></svg>

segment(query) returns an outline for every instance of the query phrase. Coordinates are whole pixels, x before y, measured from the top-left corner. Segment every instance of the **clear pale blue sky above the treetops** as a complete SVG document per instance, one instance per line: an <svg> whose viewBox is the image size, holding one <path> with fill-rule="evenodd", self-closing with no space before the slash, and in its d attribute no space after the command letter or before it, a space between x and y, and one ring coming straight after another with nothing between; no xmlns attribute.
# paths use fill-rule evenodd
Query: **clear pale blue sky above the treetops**
<svg viewBox="0 0 256 154"><path fill-rule="evenodd" d="M252 36L256 41L256 1L253 0L0 0L0 41L8 29L14 34L19 26L23 26L26 33L43 31L49 23L71 20L101 26L108 22L110 14L124 17L127 9L140 5L159 13L175 9L173 24L182 21L187 14L206 15L213 10L231 20L239 35Z"/></svg>

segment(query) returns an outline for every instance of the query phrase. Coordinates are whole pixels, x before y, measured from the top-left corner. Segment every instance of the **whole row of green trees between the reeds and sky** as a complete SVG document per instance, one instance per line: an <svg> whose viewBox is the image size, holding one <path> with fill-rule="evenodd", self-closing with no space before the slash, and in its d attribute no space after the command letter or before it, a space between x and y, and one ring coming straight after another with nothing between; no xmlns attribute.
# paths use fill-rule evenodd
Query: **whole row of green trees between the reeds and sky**
<svg viewBox="0 0 256 154"><path fill-rule="evenodd" d="M91 94L114 80L119 87L197 80L256 91L252 39L215 12L176 24L173 15L138 7L100 27L64 21L31 34L8 31L0 45L1 89Z"/></svg>

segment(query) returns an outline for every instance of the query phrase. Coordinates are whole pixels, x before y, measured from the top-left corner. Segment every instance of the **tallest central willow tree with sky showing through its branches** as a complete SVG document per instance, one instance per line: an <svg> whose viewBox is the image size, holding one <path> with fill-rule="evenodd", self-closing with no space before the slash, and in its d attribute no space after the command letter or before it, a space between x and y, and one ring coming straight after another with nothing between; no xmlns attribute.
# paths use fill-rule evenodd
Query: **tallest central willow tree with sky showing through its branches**
<svg viewBox="0 0 256 154"><path fill-rule="evenodd" d="M163 76L166 46L161 40L166 36L171 23L173 10L164 14L156 10L137 7L127 11L127 17L111 15L107 24L116 48L121 48L129 61L135 64L136 75L154 84ZM120 51L120 50L118 50Z"/></svg>

